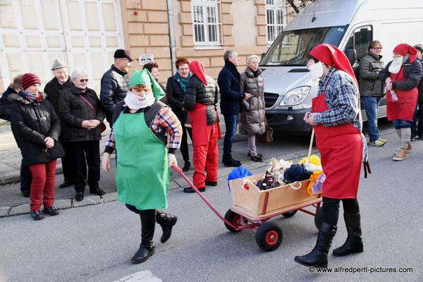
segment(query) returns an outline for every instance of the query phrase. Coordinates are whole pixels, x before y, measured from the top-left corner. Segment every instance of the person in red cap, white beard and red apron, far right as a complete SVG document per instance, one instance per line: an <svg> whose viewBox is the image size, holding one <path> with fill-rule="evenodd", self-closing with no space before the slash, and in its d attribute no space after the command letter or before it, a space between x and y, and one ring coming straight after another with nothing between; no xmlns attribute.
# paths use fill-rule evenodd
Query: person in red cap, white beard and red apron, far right
<svg viewBox="0 0 423 282"><path fill-rule="evenodd" d="M399 44L393 49L393 60L379 73L386 83L386 114L400 137L400 147L393 157L403 161L411 146L411 122L417 105L417 85L422 78L422 63L416 60L417 50L408 44ZM397 99L395 99L397 97Z"/></svg>

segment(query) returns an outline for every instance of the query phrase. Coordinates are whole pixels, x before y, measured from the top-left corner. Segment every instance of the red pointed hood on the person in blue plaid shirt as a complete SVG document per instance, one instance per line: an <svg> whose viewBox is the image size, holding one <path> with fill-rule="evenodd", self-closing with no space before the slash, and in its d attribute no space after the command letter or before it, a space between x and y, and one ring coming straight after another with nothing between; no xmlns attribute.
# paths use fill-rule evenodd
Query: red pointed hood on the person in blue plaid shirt
<svg viewBox="0 0 423 282"><path fill-rule="evenodd" d="M331 44L320 44L317 45L310 51L310 55L318 59L322 63L326 63L328 66L334 66L338 70L345 71L353 77L356 85L357 78L355 78L353 68L351 68L350 61L347 56L340 49L332 46Z"/></svg>

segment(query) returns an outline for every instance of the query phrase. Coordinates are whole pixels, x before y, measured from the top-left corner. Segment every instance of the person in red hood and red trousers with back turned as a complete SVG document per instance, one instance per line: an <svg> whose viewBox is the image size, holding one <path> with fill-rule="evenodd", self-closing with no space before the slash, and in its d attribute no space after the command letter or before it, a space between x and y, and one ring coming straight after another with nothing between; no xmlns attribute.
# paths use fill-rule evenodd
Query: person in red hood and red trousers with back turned
<svg viewBox="0 0 423 282"><path fill-rule="evenodd" d="M216 81L204 72L202 63L192 61L189 67L193 75L187 84L183 109L189 111L192 125L192 161L195 168L192 182L200 192L204 192L206 185L217 185L217 138L221 138L216 110L219 90ZM204 166L207 175L204 173ZM187 187L183 192L192 193L195 190Z"/></svg>

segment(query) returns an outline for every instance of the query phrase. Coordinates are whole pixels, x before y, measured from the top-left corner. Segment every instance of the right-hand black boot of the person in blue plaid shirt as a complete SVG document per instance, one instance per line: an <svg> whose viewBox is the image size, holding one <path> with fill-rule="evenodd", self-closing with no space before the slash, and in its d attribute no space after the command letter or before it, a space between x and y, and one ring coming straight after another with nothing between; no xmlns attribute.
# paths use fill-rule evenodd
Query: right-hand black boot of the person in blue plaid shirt
<svg viewBox="0 0 423 282"><path fill-rule="evenodd" d="M336 257L343 257L355 252L363 252L360 214L344 214L344 219L348 237L344 245L333 250L332 254Z"/></svg>

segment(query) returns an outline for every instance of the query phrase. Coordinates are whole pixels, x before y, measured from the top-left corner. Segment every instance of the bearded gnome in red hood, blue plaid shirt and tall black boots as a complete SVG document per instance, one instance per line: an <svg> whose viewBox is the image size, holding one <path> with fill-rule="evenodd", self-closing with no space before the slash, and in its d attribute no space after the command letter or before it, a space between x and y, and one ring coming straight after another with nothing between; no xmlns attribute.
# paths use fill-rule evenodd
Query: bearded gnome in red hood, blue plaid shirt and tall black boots
<svg viewBox="0 0 423 282"><path fill-rule="evenodd" d="M333 250L333 255L363 251L357 189L361 163L367 163L367 142L361 133L360 92L345 54L329 44L320 44L310 51L307 68L312 79L320 81L317 97L312 100L313 112L307 112L304 120L316 133L326 180L321 207L323 222L316 246L309 254L295 257L295 262L327 267L341 200L348 238Z"/></svg>

